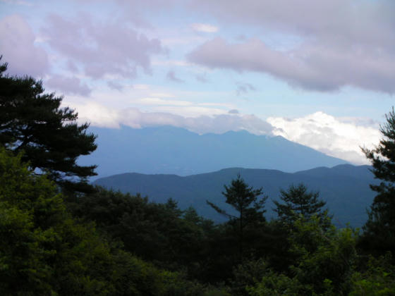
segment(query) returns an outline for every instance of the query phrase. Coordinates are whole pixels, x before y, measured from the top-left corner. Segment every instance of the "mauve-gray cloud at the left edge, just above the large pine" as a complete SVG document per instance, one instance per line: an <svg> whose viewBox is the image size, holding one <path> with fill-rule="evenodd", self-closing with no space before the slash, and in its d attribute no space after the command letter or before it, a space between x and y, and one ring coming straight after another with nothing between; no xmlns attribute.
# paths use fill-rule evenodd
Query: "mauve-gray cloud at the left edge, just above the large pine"
<svg viewBox="0 0 395 296"><path fill-rule="evenodd" d="M49 70L47 53L35 44L30 25L17 15L0 20L1 62L8 62L8 73L42 77Z"/></svg>

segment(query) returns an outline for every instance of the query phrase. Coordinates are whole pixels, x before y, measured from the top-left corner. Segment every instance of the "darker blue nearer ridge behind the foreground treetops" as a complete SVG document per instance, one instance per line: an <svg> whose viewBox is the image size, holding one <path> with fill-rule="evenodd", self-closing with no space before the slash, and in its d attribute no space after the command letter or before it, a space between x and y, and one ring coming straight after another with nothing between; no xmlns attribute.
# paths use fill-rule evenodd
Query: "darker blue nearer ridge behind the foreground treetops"
<svg viewBox="0 0 395 296"><path fill-rule="evenodd" d="M267 200L267 216L274 216L272 200L277 200L279 190L286 190L289 185L304 183L309 190L319 190L320 197L327 202L329 211L334 214L334 223L338 226L363 226L367 219L366 209L372 204L375 192L369 185L378 183L374 179L370 166L352 166L349 164L333 168L319 167L296 173L284 173L278 170L226 168L213 173L198 175L145 175L141 173L123 173L99 178L96 185L102 185L121 192L147 195L154 202L166 202L172 197L178 201L181 209L194 206L202 216L224 221L206 204L208 199L230 210L225 204L221 192L224 185L238 173L253 187L263 187Z"/></svg>

